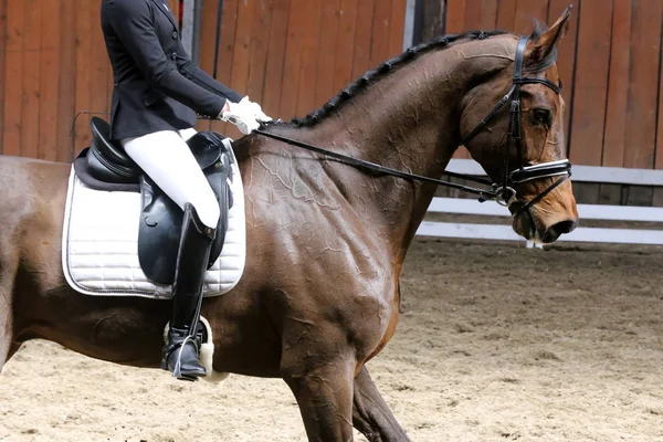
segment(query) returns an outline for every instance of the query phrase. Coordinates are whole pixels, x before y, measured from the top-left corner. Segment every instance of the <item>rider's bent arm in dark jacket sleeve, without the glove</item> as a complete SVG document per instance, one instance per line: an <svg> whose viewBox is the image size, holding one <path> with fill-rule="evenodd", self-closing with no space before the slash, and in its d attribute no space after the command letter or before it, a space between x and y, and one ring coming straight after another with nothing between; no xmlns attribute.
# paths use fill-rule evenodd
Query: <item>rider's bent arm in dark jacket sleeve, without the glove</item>
<svg viewBox="0 0 663 442"><path fill-rule="evenodd" d="M123 45L131 55L147 81L198 114L218 117L227 106L227 98L239 94L225 88L210 91L182 75L176 63L168 60L156 35L149 7L144 1L115 0L107 4L108 18ZM177 61L180 55L171 54ZM197 75L198 76L198 75ZM225 95L228 92L229 95ZM239 101L239 99L238 99Z"/></svg>

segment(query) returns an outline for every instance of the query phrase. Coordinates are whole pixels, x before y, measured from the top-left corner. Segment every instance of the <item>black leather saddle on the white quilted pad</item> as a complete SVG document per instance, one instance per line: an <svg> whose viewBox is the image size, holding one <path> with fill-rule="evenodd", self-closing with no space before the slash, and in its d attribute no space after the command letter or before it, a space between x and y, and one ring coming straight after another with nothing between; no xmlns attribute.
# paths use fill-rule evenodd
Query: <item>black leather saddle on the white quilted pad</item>
<svg viewBox="0 0 663 442"><path fill-rule="evenodd" d="M139 192L138 260L145 275L159 284L172 284L179 250L183 212L136 165L123 147L109 139L110 127L98 117L90 122L92 143L74 160L78 179L101 191ZM187 144L217 196L221 217L212 244L208 269L223 249L228 212L233 204L230 139L213 131L201 131Z"/></svg>

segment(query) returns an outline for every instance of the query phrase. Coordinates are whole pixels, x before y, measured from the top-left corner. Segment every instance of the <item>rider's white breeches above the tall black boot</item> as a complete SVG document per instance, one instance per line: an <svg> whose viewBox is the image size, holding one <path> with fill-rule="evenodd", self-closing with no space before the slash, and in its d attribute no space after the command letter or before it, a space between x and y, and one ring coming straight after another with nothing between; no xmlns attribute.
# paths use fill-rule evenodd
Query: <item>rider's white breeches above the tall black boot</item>
<svg viewBox="0 0 663 442"><path fill-rule="evenodd" d="M127 155L182 210L193 206L200 221L215 229L219 222L219 202L193 158L187 140L196 129L160 130L136 138L123 138Z"/></svg>

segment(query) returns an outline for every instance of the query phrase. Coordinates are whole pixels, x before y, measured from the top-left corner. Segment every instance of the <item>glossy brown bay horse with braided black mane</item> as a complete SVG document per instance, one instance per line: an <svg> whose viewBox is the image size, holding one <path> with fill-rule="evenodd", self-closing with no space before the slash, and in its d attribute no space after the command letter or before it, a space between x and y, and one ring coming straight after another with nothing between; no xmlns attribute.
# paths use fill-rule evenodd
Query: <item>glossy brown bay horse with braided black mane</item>
<svg viewBox="0 0 663 442"><path fill-rule="evenodd" d="M545 173L566 161L555 60L568 17L528 38L439 38L369 72L308 117L263 131L436 178L464 143L503 183L497 193L509 197L514 230L555 241L578 220L570 180ZM312 441L350 441L352 425L370 441L408 440L365 365L396 330L399 275L436 186L262 134L234 149L245 185L246 267L233 291L203 304L214 370L284 379ZM169 303L85 296L65 282L70 168L0 157L0 367L22 343L42 338L156 368ZM512 186L516 193L506 196Z"/></svg>

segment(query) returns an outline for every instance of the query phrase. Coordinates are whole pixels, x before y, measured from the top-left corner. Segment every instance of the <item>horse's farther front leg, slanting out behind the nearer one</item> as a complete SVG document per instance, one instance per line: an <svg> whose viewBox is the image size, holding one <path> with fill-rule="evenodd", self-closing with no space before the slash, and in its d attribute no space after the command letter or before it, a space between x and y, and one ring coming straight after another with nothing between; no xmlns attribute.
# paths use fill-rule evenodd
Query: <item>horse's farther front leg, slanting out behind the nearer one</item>
<svg viewBox="0 0 663 442"><path fill-rule="evenodd" d="M352 423L370 442L409 441L373 383L368 369L355 378Z"/></svg>

